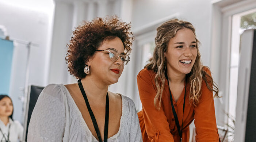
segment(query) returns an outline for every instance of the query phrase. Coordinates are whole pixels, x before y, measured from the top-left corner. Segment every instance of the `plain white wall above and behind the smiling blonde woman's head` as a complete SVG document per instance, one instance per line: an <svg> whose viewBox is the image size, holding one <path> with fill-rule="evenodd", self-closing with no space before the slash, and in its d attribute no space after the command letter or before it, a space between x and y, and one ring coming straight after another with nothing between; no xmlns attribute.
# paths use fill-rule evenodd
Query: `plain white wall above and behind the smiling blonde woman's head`
<svg viewBox="0 0 256 142"><path fill-rule="evenodd" d="M133 29L178 13L195 27L203 64L210 66L210 0L134 0L132 12Z"/></svg>

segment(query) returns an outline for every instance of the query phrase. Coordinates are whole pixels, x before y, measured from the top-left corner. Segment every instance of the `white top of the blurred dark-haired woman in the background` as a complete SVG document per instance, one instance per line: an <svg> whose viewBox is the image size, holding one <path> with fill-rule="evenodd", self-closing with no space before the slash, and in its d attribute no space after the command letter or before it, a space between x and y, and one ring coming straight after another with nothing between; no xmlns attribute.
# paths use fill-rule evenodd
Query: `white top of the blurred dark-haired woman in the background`
<svg viewBox="0 0 256 142"><path fill-rule="evenodd" d="M7 123L7 125L5 126L5 124L0 119L0 128L2 131L0 131L0 142L5 142L5 139L8 139L8 132L10 142L17 142L18 140L22 141L23 127L18 121L12 121L12 119L9 118L9 123Z"/></svg>

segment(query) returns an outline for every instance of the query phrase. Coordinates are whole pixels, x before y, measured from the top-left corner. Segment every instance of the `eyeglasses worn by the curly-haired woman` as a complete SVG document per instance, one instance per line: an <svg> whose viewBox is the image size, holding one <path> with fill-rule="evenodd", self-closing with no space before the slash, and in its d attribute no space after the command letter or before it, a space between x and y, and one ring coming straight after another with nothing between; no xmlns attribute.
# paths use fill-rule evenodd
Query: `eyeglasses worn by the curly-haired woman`
<svg viewBox="0 0 256 142"><path fill-rule="evenodd" d="M110 48L110 49L106 49L106 50L96 50L96 51L105 51L105 52L108 52L109 54L109 58L115 62L116 60L118 60L118 58L120 57L122 62L123 62L123 65L127 65L127 63L130 61L130 57L128 55L125 55L125 54L121 54L119 55L118 54L118 51L113 49L113 48Z"/></svg>

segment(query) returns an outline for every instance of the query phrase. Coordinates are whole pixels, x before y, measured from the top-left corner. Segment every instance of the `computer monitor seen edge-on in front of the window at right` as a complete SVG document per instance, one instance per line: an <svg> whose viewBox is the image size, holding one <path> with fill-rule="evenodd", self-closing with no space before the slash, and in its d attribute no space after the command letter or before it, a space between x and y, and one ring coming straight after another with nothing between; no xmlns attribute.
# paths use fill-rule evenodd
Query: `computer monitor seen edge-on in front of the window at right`
<svg viewBox="0 0 256 142"><path fill-rule="evenodd" d="M234 142L256 142L256 29L241 35Z"/></svg>

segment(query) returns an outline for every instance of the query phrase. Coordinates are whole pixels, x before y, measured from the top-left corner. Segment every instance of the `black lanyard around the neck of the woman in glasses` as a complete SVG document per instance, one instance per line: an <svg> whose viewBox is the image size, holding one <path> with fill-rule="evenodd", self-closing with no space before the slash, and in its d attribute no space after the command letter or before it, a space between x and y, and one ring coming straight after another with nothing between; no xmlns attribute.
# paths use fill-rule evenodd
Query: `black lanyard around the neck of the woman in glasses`
<svg viewBox="0 0 256 142"><path fill-rule="evenodd" d="M90 114L91 119L92 119L92 123L93 123L94 129L95 129L95 131L97 133L97 136L99 138L99 142L102 142L102 138L100 137L100 130L99 130L98 124L96 122L95 116L93 115L93 112L92 112L92 109L90 107L89 101L87 99L86 93L84 91L84 87L82 85L82 82L81 82L81 80L78 80L77 82L78 82L80 91L83 94L83 97L84 97L87 109L88 109L89 114ZM108 113L109 113L109 102L108 102L108 93L107 93L107 96L106 96L105 126L104 126L104 142L108 141L107 140L108 139Z"/></svg>

